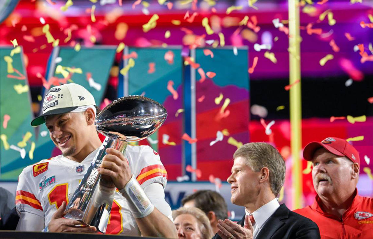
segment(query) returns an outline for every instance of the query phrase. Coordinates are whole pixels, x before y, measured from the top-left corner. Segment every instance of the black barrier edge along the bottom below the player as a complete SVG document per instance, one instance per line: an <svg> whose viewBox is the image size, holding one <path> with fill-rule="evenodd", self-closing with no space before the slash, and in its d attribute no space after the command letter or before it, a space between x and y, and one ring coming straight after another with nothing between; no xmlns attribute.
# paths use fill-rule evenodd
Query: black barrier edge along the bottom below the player
<svg viewBox="0 0 373 239"><path fill-rule="evenodd" d="M113 237L123 239L153 238L140 236L104 235L97 233L15 232L0 230L0 239L110 239Z"/></svg>

